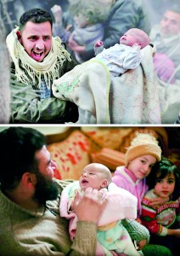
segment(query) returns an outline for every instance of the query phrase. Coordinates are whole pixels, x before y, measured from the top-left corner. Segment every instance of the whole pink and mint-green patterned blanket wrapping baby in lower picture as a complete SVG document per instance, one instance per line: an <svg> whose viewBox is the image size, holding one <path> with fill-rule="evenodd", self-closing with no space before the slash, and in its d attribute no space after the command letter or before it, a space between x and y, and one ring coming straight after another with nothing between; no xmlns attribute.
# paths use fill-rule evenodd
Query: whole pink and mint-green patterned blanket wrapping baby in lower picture
<svg viewBox="0 0 180 256"><path fill-rule="evenodd" d="M75 212L69 211L69 201L80 191L79 182L70 183L62 191L60 216L70 219L70 239L76 234L77 218ZM139 256L131 237L121 224L122 218L137 218L137 198L125 189L110 183L107 191L108 203L98 220L96 255L131 255ZM114 252L114 253L111 253ZM116 254L117 253L117 254ZM122 253L122 254L121 254Z"/></svg>

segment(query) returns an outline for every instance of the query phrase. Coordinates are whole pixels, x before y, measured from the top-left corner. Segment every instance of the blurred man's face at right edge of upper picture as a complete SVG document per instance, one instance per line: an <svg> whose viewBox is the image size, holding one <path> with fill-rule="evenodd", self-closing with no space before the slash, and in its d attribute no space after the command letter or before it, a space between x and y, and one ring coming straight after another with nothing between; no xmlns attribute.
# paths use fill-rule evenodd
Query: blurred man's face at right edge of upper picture
<svg viewBox="0 0 180 256"><path fill-rule="evenodd" d="M164 38L180 33L180 14L167 11L160 21L160 32Z"/></svg>

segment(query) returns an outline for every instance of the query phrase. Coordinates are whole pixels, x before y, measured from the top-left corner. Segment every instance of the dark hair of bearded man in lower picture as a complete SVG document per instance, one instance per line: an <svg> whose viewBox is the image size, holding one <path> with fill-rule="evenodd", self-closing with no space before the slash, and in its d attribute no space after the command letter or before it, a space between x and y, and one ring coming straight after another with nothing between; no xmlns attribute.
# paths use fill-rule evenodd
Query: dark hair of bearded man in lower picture
<svg viewBox="0 0 180 256"><path fill-rule="evenodd" d="M0 132L0 184L14 189L25 172L36 172L37 150L46 144L46 137L29 127L9 127Z"/></svg>

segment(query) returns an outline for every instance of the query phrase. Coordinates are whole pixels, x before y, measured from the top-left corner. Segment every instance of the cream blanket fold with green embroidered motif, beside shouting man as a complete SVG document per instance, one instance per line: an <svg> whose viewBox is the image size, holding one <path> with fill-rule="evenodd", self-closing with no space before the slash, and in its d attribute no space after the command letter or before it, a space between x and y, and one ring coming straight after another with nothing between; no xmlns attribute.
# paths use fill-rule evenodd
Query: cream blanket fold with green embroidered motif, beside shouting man
<svg viewBox="0 0 180 256"><path fill-rule="evenodd" d="M80 107L79 123L110 124L110 72L98 61L77 65L54 80L53 96Z"/></svg>

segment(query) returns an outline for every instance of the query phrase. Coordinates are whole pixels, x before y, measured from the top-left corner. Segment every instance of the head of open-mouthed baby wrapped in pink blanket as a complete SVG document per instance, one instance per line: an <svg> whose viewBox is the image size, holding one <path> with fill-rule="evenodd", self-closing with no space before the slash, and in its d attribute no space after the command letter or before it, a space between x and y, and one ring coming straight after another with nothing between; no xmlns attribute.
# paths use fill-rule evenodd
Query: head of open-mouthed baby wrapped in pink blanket
<svg viewBox="0 0 180 256"><path fill-rule="evenodd" d="M108 188L111 183L110 170L98 163L89 164L83 169L79 183L83 191L87 188L98 190Z"/></svg>

